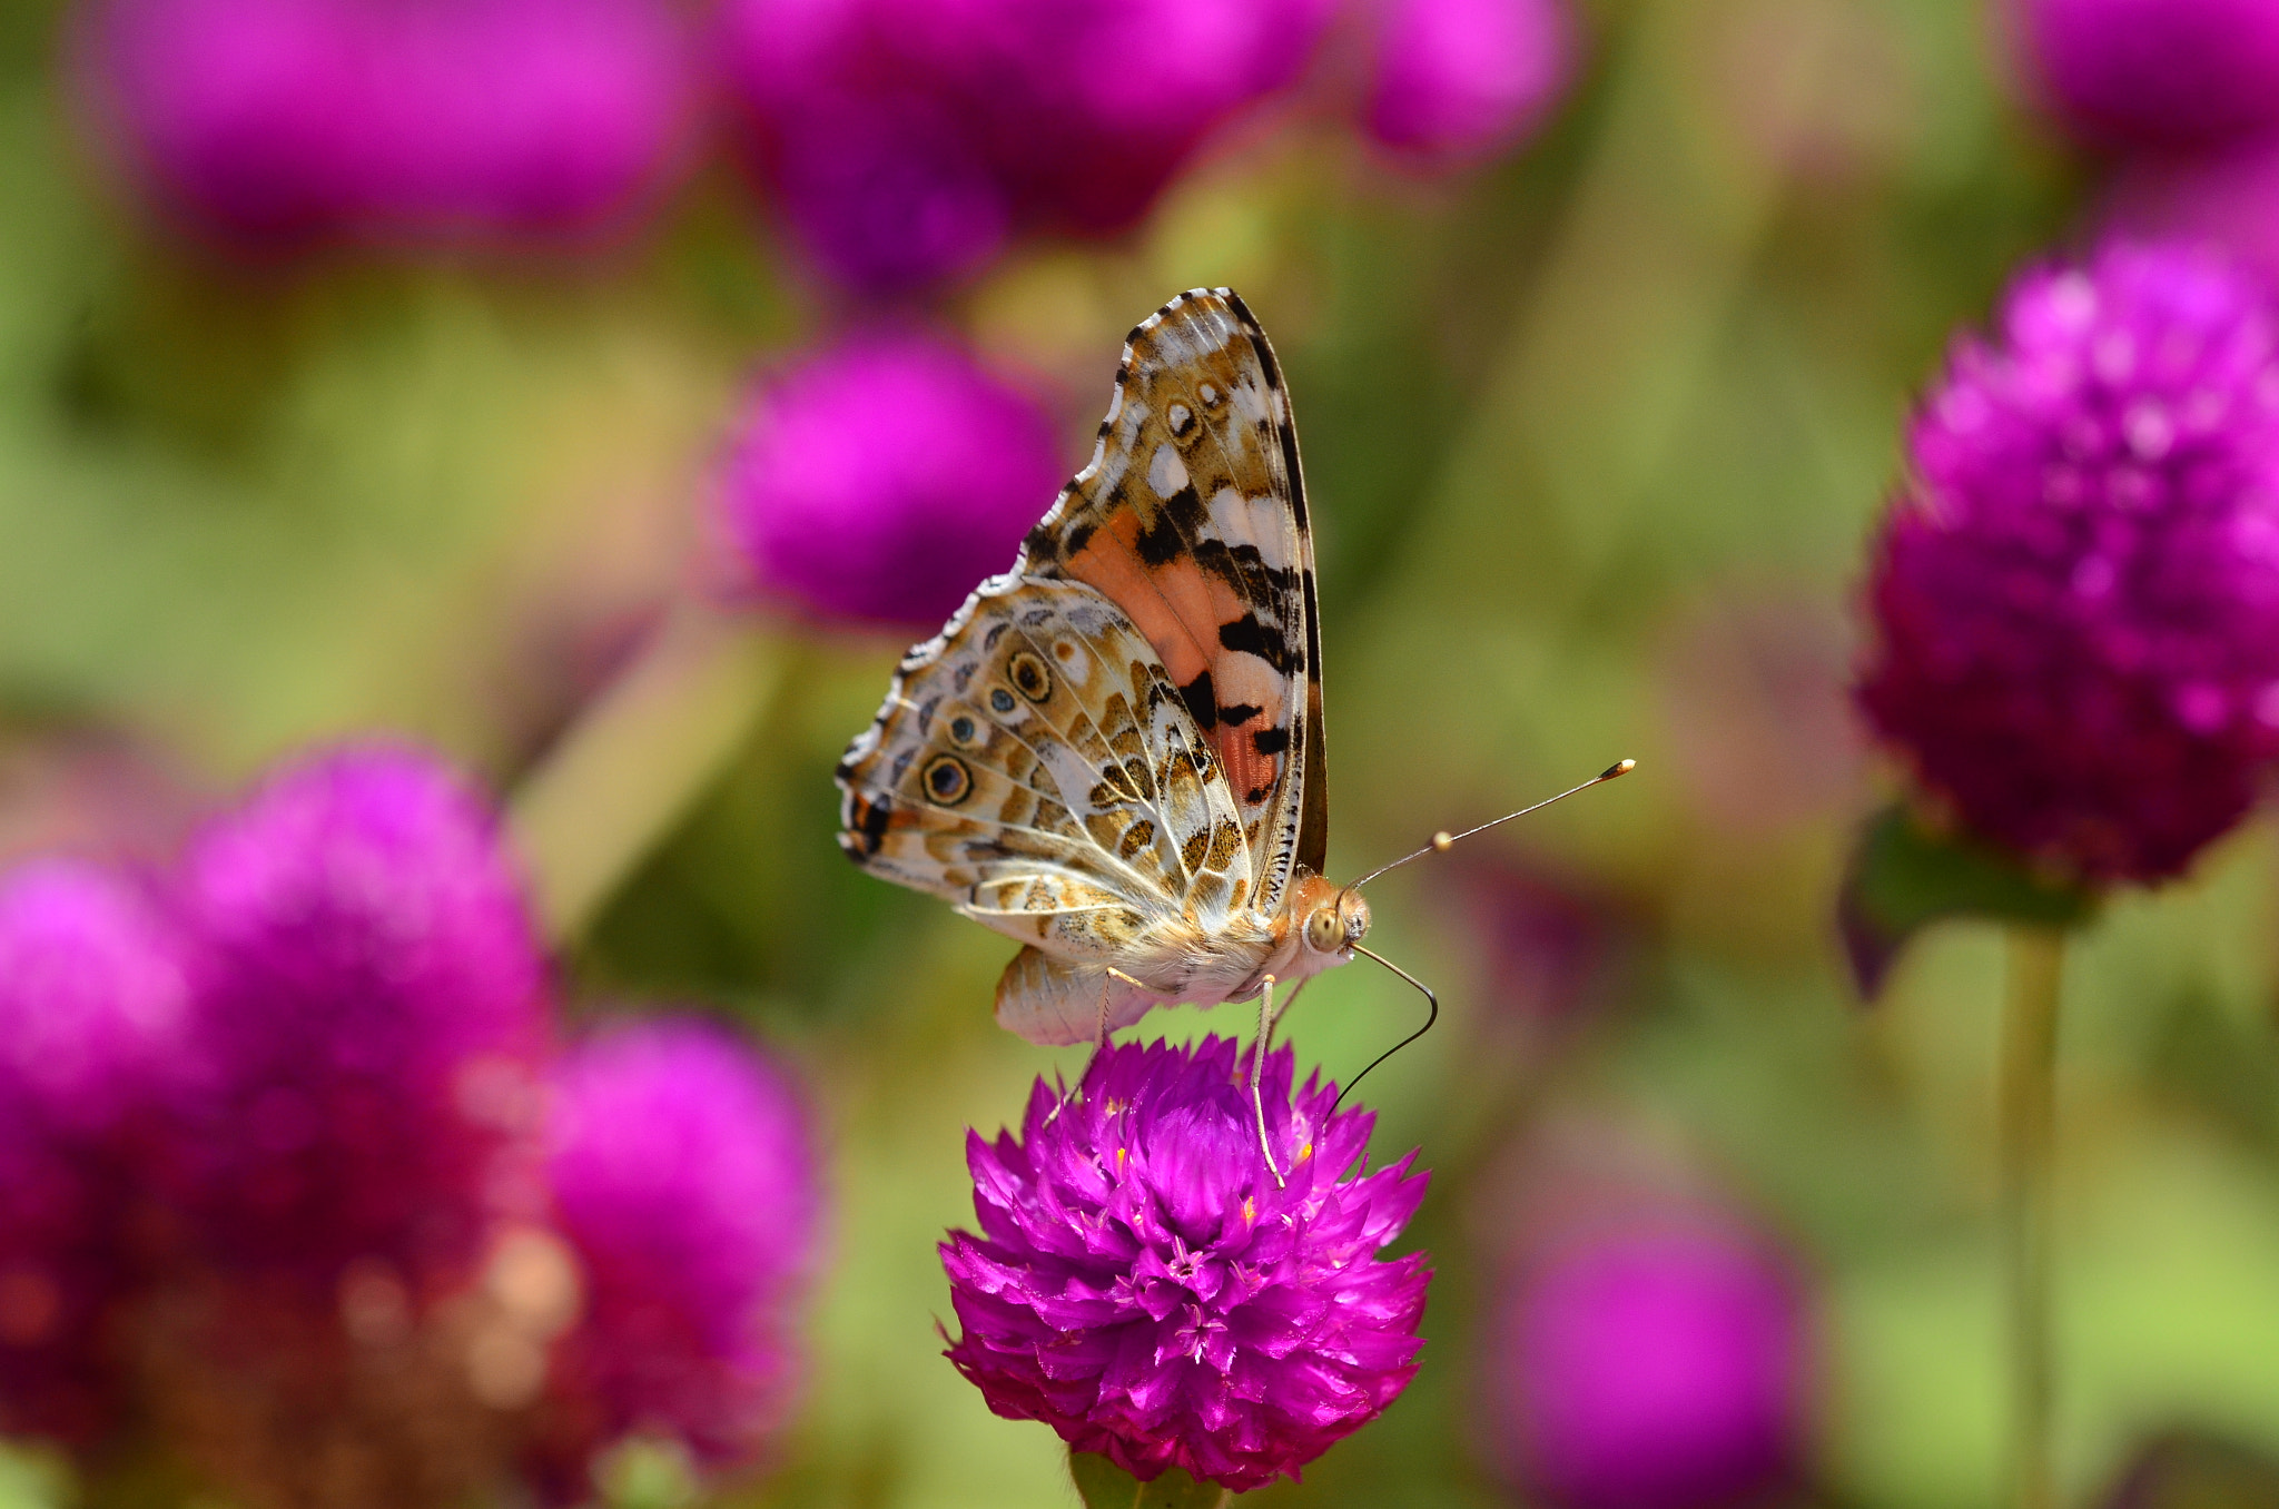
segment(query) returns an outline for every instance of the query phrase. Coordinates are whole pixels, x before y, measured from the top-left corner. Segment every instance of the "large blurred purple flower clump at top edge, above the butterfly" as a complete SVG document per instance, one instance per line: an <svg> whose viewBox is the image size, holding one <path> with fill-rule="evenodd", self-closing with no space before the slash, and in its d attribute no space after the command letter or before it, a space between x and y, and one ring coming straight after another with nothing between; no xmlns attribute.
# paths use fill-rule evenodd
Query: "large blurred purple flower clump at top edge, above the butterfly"
<svg viewBox="0 0 2279 1509"><path fill-rule="evenodd" d="M807 253L896 294L1021 228L1126 230L1326 21L1326 0L727 0L720 52Z"/></svg>

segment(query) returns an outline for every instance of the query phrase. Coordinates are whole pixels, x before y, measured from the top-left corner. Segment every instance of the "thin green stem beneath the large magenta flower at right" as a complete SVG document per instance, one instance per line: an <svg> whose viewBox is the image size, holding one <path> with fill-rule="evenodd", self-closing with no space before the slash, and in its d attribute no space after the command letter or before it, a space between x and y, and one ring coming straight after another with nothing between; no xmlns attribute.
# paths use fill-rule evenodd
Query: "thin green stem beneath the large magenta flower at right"
<svg viewBox="0 0 2279 1509"><path fill-rule="evenodd" d="M2010 928L2001 1046L2003 1249L2010 1281L2012 1502L2053 1509L2049 1457L2049 1226L2056 1131L2058 976L2065 932Z"/></svg>

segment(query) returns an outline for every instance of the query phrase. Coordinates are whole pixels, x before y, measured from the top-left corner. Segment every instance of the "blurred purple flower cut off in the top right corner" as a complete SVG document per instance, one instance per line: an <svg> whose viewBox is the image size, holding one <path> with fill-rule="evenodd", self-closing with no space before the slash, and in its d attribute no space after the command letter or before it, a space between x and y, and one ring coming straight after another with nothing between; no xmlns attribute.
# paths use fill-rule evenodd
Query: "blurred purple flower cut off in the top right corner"
<svg viewBox="0 0 2279 1509"><path fill-rule="evenodd" d="M2206 148L2279 125L2268 0L2012 0L2049 103L2101 146Z"/></svg>

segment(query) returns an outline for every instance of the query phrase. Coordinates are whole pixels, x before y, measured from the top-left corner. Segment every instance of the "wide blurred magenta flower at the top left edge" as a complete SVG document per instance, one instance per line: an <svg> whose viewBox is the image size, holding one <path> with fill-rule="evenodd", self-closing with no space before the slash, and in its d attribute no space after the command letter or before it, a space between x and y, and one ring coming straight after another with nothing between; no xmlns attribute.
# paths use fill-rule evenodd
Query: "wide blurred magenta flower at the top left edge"
<svg viewBox="0 0 2279 1509"><path fill-rule="evenodd" d="M82 52L150 189L258 244L611 228L691 116L659 0L107 0Z"/></svg>

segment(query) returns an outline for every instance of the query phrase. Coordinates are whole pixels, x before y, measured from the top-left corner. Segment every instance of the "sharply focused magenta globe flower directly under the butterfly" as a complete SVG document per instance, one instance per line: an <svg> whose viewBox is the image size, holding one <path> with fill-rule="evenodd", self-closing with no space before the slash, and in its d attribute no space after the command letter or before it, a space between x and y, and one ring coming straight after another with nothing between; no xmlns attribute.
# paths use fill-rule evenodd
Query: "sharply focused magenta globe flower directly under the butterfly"
<svg viewBox="0 0 2279 1509"><path fill-rule="evenodd" d="M1411 1158L1363 1174L1372 1115L1335 1085L1265 1108L1235 1042L1103 1049L1073 1096L1042 1080L1021 1137L966 1140L980 1235L941 1245L964 1333L948 1359L989 1409L1078 1452L1247 1491L1374 1420L1415 1372L1429 1272L1379 1258L1424 1199Z"/></svg>

